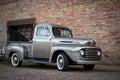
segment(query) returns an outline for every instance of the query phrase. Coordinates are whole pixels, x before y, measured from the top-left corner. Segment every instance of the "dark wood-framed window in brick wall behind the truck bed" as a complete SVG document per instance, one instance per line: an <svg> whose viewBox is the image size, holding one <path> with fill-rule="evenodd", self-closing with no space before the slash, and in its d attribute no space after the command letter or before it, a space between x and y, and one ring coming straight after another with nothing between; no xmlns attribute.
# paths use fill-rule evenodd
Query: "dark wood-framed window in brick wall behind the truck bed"
<svg viewBox="0 0 120 80"><path fill-rule="evenodd" d="M33 38L35 18L8 21L9 41L29 41ZM30 35L28 35L28 33Z"/></svg>

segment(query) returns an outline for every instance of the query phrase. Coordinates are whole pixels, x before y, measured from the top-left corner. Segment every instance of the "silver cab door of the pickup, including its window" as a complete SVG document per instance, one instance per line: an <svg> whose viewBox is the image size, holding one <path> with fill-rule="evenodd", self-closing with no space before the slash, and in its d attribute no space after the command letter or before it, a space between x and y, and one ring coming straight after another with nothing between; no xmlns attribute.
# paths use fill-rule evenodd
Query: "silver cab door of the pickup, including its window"
<svg viewBox="0 0 120 80"><path fill-rule="evenodd" d="M50 54L51 36L48 27L37 27L33 38L33 57L48 59Z"/></svg>

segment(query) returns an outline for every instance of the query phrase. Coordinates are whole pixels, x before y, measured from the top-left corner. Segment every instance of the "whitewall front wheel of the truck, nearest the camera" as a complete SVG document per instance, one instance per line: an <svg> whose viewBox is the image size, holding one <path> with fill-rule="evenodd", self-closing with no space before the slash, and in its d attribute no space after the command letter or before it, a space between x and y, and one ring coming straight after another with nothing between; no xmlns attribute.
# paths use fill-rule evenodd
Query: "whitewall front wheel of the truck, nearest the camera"
<svg viewBox="0 0 120 80"><path fill-rule="evenodd" d="M57 68L60 71L65 71L68 69L69 66L69 59L68 56L64 53L60 53L57 56Z"/></svg>

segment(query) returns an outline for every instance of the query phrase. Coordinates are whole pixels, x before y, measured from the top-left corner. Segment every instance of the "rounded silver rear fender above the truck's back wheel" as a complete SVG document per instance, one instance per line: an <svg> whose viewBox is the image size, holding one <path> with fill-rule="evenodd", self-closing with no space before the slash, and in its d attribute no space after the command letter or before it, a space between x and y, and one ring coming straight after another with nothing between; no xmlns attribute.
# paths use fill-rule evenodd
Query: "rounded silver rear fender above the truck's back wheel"
<svg viewBox="0 0 120 80"><path fill-rule="evenodd" d="M7 47L6 58L9 58L12 53L17 53L20 56L20 60L24 59L24 46L11 45Z"/></svg>

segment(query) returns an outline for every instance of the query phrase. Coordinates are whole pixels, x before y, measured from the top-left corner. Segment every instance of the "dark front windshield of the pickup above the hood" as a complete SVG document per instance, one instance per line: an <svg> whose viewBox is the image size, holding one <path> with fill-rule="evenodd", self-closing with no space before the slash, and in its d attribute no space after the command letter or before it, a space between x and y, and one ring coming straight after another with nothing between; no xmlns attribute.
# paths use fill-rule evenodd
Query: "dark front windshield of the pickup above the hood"
<svg viewBox="0 0 120 80"><path fill-rule="evenodd" d="M72 37L72 33L68 28L53 27L52 30L55 37Z"/></svg>

